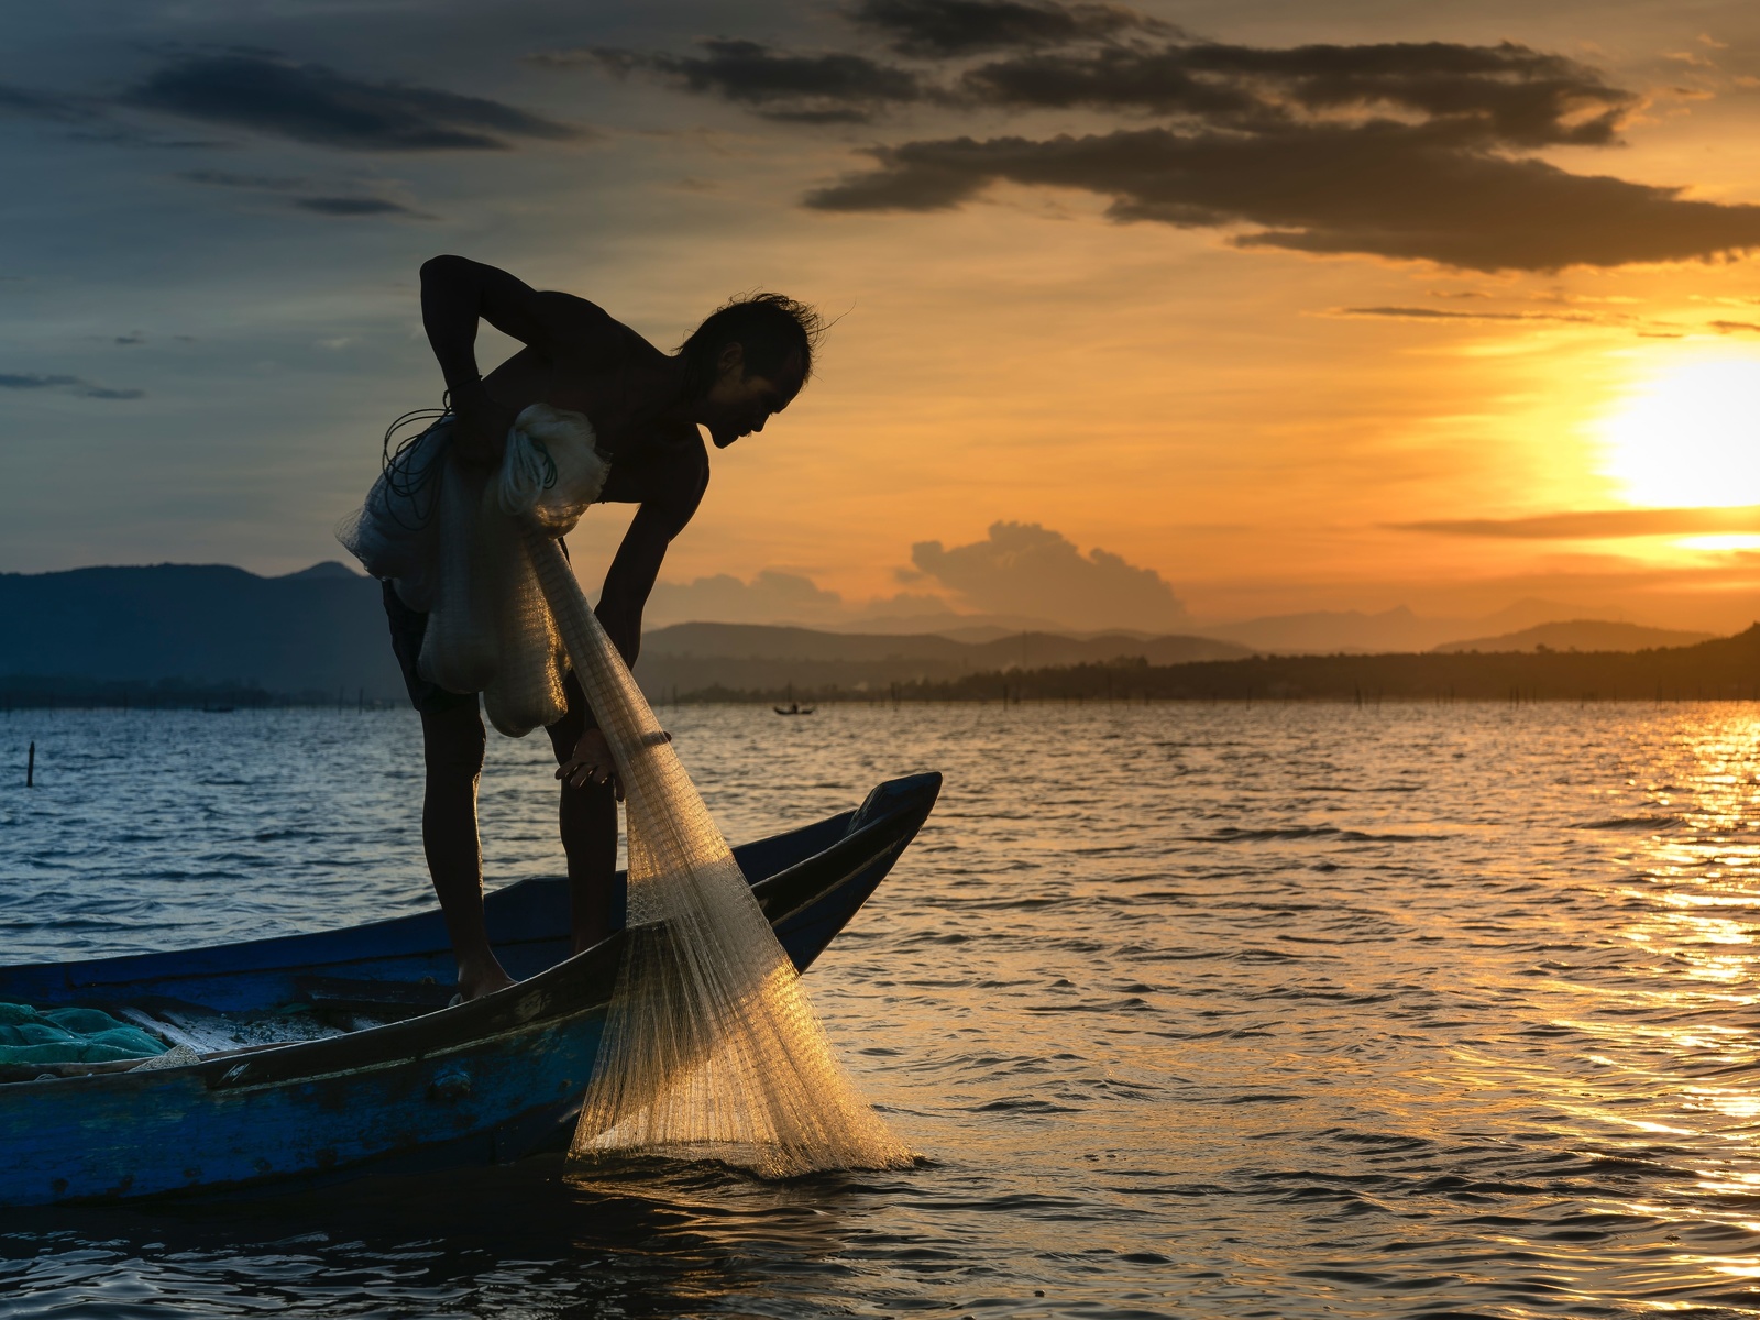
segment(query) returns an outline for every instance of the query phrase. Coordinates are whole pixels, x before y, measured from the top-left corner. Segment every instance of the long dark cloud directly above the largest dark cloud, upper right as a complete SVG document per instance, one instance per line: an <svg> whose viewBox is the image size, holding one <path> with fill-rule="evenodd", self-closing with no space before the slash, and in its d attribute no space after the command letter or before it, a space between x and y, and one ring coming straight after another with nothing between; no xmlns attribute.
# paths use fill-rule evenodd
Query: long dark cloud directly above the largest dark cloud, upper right
<svg viewBox="0 0 1760 1320"><path fill-rule="evenodd" d="M961 86L998 106L1195 114L1236 127L1420 114L1436 141L1503 146L1607 144L1639 104L1588 65L1512 42L1111 46L998 60L966 70Z"/></svg>

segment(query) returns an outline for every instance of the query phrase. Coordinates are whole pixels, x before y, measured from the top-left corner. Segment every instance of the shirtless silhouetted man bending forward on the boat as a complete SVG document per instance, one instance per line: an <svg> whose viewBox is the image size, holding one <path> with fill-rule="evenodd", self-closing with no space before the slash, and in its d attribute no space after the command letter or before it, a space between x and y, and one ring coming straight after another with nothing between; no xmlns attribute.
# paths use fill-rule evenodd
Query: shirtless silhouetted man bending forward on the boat
<svg viewBox="0 0 1760 1320"><path fill-rule="evenodd" d="M477 371L479 320L526 345L488 377ZM435 257L422 266L422 326L451 392L454 461L500 463L514 417L532 403L581 412L593 422L598 449L611 458L602 500L639 505L595 611L634 665L642 605L667 546L709 484L709 454L697 428L708 428L716 449L762 431L813 370L817 317L792 299L759 294L713 313L667 356L583 297L539 292L463 257ZM403 605L389 583L385 611L410 700L422 715L422 848L458 956L459 994L473 1000L512 984L489 949L482 919L482 716L477 693L447 692L415 672L428 616ZM565 692L567 715L547 732L561 780L561 843L574 950L581 952L611 933L618 785L611 750L572 672Z"/></svg>

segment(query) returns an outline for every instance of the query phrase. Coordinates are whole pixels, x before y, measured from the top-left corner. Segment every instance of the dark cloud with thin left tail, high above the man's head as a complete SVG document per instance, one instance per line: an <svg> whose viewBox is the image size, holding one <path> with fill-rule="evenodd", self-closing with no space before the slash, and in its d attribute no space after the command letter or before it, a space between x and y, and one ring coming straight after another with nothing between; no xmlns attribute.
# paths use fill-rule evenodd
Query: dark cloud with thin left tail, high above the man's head
<svg viewBox="0 0 1760 1320"><path fill-rule="evenodd" d="M755 40L704 40L702 55L590 48L530 56L567 67L597 63L620 76L655 74L678 86L750 106L771 120L862 123L889 102L917 100L917 76L864 55L794 55Z"/></svg>

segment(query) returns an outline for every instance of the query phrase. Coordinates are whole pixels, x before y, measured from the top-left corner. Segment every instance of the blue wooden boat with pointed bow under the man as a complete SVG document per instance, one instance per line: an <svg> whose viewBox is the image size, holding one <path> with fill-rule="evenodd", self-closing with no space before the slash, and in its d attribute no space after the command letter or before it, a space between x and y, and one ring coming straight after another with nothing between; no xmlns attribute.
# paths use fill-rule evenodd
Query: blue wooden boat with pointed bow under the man
<svg viewBox="0 0 1760 1320"><path fill-rule="evenodd" d="M940 774L734 848L806 970L928 818ZM598 1051L618 933L568 957L567 880L486 901L519 984L459 1007L438 912L341 931L0 968L0 998L90 1005L176 1042L171 1067L0 1072L0 1206L253 1192L561 1149ZM174 1063L188 1058L188 1063Z"/></svg>

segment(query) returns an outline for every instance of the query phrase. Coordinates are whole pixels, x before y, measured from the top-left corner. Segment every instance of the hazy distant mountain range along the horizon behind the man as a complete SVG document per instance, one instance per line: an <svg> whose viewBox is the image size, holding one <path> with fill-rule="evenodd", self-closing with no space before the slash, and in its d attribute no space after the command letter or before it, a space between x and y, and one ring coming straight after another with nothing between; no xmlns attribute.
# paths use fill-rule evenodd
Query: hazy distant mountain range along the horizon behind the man
<svg viewBox="0 0 1760 1320"><path fill-rule="evenodd" d="M637 678L653 699L672 692L778 692L790 685L801 692L884 692L894 683L949 683L970 674L1118 660L1165 667L1255 651L1375 653L1438 646L1591 651L1702 639L1702 634L1630 623L1559 623L1554 621L1559 609L1522 602L1477 621L1424 620L1408 609L1292 614L1248 620L1207 637L1051 630L994 635L994 623L963 625L957 614L922 620L935 620L935 630L871 634L679 623L642 639ZM1494 634L1500 623L1521 630ZM171 563L0 574L5 692L74 692L79 685L114 690L172 679L232 685L278 699L403 700L380 586L340 563L319 563L287 577Z"/></svg>

